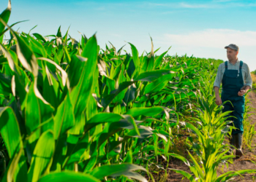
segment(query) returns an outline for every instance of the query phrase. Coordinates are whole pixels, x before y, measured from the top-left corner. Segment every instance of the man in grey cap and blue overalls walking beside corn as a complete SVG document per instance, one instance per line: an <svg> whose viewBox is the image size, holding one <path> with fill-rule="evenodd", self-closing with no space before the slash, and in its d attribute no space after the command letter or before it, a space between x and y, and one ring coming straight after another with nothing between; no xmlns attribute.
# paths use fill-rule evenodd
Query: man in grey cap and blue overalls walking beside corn
<svg viewBox="0 0 256 182"><path fill-rule="evenodd" d="M239 47L230 44L227 49L227 59L225 63L219 65L217 76L214 82L216 103L219 106L223 102L230 100L232 103L225 103L223 112L233 111L230 115L235 116L233 120L236 130L232 130L230 144L236 146L236 156L241 157L243 141L243 119L244 119L244 95L252 87L252 77L249 67L243 61L238 60ZM219 97L219 88L222 83L222 97Z"/></svg>

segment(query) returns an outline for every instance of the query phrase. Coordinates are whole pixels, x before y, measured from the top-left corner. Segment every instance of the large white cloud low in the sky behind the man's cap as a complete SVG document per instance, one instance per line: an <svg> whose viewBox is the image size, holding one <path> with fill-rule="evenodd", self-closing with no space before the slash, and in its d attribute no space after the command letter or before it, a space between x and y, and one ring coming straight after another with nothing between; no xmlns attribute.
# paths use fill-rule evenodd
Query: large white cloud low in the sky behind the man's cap
<svg viewBox="0 0 256 182"><path fill-rule="evenodd" d="M171 44L194 47L224 47L227 44L256 46L256 31L206 29L187 34L165 34Z"/></svg>

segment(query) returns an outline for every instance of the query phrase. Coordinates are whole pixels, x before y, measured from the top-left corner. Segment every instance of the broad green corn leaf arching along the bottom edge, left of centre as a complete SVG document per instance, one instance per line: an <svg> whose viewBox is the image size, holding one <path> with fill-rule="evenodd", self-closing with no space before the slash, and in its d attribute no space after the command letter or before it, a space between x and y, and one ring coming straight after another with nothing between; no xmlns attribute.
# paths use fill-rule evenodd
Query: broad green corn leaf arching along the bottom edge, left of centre
<svg viewBox="0 0 256 182"><path fill-rule="evenodd" d="M100 182L97 178L84 173L64 171L61 173L50 173L39 178L38 182Z"/></svg>

